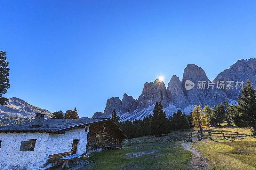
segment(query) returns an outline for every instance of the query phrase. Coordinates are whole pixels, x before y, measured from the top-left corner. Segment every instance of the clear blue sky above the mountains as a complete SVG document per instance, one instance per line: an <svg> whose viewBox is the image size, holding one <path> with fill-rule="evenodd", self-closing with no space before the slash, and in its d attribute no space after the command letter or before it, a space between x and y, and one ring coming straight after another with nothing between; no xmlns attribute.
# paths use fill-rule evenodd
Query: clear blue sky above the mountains
<svg viewBox="0 0 256 170"><path fill-rule="evenodd" d="M213 80L256 56L256 1L1 1L0 50L18 97L51 112L104 111L145 82L182 79L187 64Z"/></svg>

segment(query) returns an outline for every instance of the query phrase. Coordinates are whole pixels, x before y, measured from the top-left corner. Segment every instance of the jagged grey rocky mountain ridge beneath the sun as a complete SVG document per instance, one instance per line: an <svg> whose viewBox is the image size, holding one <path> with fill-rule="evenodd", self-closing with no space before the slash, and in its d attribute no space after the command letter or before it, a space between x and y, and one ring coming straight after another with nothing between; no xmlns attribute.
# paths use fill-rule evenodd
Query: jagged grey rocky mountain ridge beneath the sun
<svg viewBox="0 0 256 170"><path fill-rule="evenodd" d="M104 112L96 112L93 118L110 117L114 108L116 108L117 115L121 118L121 121L142 119L148 117L153 112L154 104L156 100L161 102L166 115L169 117L177 110L184 111L186 114L190 110L193 110L194 105L200 105L202 107L209 105L213 107L219 103L228 102L235 103L239 90L220 89L216 82L220 81L244 81L249 79L256 87L256 59L241 59L235 64L231 65L228 69L220 72L213 81L210 81L204 70L195 65L188 64L184 69L182 80L176 75L173 75L170 79L168 86L164 85L164 82L156 79L154 82L146 82L142 89L142 93L138 99L133 99L129 96L130 105L123 105L123 100L119 97L112 97L107 100L106 108ZM185 82L190 80L195 84L195 87L186 90ZM196 82L206 82L204 89L198 89ZM209 87L208 87L209 83ZM125 98L127 94L125 93ZM126 101L126 99L124 100ZM132 102L132 104L131 104ZM120 107L122 110L120 111ZM130 107L132 105L132 107ZM127 106L127 107L126 107ZM130 108L130 110L129 110ZM128 111L129 110L129 111ZM124 111L127 111L124 113Z"/></svg>

